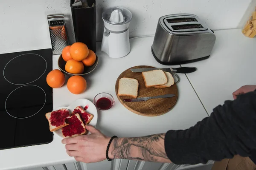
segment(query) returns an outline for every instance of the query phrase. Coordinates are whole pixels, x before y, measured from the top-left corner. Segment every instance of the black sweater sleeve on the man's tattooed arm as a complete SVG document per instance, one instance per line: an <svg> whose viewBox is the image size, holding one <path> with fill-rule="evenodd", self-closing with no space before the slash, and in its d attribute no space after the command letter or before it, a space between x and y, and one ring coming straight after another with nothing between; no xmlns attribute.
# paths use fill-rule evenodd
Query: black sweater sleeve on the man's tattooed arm
<svg viewBox="0 0 256 170"><path fill-rule="evenodd" d="M169 130L164 143L175 164L220 161L237 154L251 156L256 149L256 91L225 101L189 129Z"/></svg>

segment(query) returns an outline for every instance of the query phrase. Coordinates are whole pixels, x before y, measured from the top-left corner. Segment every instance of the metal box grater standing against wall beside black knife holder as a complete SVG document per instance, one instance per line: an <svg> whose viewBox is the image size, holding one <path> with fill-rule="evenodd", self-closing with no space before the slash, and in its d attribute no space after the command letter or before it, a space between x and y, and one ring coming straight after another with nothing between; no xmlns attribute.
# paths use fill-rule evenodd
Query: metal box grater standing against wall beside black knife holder
<svg viewBox="0 0 256 170"><path fill-rule="evenodd" d="M52 53L61 54L64 47L69 45L64 14L47 15L49 32L52 43Z"/></svg>

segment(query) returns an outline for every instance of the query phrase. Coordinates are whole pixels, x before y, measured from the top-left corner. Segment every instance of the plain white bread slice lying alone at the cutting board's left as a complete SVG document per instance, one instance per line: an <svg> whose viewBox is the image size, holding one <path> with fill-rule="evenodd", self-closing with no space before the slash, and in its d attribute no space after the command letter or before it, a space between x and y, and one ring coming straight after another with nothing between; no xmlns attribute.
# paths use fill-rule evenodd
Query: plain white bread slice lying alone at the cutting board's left
<svg viewBox="0 0 256 170"><path fill-rule="evenodd" d="M118 96L129 96L137 98L139 82L137 79L123 77L119 79Z"/></svg>

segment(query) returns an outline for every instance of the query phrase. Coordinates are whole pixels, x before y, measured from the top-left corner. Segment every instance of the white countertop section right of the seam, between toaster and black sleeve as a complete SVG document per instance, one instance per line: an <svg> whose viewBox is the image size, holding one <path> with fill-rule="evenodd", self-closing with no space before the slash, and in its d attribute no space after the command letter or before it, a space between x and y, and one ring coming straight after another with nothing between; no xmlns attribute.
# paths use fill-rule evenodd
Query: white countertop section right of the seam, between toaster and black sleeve
<svg viewBox="0 0 256 170"><path fill-rule="evenodd" d="M256 39L241 29L215 31L216 42L209 59L182 65L198 70L187 74L210 114L243 85L256 85Z"/></svg>

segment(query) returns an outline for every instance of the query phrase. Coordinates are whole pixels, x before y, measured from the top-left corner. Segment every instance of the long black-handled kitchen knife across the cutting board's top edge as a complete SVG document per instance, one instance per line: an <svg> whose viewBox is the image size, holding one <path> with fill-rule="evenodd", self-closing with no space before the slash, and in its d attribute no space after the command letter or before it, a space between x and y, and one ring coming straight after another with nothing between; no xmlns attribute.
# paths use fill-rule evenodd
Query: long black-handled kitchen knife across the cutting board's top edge
<svg viewBox="0 0 256 170"><path fill-rule="evenodd" d="M163 70L170 73L192 73L196 71L195 67L180 67L180 68L131 68L132 72L143 72L151 70Z"/></svg>

